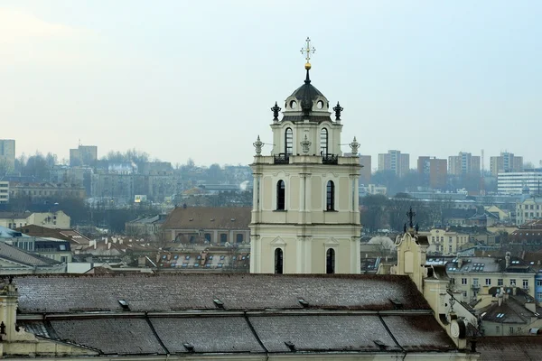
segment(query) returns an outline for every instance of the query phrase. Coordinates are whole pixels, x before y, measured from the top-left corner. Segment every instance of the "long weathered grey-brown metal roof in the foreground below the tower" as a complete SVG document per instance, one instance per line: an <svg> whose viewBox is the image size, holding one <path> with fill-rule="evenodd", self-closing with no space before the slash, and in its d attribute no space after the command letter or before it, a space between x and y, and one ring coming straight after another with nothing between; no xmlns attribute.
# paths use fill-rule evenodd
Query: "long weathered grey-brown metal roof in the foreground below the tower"
<svg viewBox="0 0 542 361"><path fill-rule="evenodd" d="M448 335L406 275L24 276L2 284L0 305L5 358L474 361L480 356L467 347L463 329L457 337Z"/></svg>

